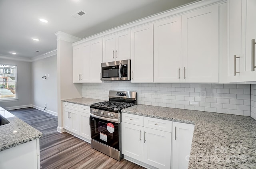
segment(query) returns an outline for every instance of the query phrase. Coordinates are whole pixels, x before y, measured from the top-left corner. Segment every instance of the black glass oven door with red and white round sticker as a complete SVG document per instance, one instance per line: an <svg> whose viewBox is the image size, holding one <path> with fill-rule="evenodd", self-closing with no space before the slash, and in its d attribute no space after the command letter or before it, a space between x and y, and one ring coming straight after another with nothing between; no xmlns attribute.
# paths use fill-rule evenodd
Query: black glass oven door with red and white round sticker
<svg viewBox="0 0 256 169"><path fill-rule="evenodd" d="M90 113L91 139L121 149L121 124L119 119L99 116Z"/></svg>

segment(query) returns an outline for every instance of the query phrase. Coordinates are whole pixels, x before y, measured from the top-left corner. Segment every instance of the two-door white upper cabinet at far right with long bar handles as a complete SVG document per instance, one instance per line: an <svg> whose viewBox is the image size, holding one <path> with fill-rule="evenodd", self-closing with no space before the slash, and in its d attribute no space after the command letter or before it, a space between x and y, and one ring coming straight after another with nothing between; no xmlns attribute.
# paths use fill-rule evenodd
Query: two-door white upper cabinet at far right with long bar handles
<svg viewBox="0 0 256 169"><path fill-rule="evenodd" d="M256 1L228 1L229 82L256 81Z"/></svg>

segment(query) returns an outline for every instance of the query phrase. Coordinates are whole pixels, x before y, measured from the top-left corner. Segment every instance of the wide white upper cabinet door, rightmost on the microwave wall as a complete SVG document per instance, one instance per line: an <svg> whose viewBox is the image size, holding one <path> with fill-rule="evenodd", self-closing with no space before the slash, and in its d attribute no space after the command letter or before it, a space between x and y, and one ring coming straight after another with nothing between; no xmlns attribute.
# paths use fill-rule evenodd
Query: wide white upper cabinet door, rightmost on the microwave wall
<svg viewBox="0 0 256 169"><path fill-rule="evenodd" d="M183 82L218 83L218 5L182 15Z"/></svg>

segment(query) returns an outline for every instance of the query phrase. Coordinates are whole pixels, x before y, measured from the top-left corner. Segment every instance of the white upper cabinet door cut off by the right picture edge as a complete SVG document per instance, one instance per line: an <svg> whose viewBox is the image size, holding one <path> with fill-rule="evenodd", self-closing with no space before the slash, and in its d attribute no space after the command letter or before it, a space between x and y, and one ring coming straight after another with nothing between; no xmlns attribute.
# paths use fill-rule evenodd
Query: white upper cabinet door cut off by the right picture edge
<svg viewBox="0 0 256 169"><path fill-rule="evenodd" d="M245 71L246 75L244 81L256 81L256 68L253 67L256 65L256 1L247 0L246 4L246 57L245 57ZM254 43L252 42L254 39ZM253 52L254 48L254 53ZM252 62L254 61L254 64Z"/></svg>

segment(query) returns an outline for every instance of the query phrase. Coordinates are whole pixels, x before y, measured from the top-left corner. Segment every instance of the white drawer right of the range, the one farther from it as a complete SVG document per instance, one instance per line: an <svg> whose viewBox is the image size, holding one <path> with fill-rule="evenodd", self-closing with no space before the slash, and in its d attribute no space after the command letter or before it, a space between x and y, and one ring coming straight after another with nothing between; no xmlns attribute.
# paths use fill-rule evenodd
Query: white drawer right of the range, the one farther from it
<svg viewBox="0 0 256 169"><path fill-rule="evenodd" d="M144 127L172 132L172 121L158 118L144 117Z"/></svg>

